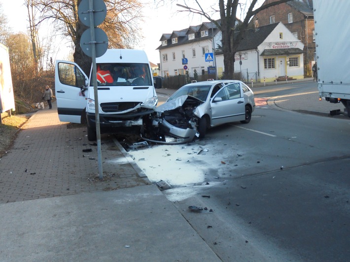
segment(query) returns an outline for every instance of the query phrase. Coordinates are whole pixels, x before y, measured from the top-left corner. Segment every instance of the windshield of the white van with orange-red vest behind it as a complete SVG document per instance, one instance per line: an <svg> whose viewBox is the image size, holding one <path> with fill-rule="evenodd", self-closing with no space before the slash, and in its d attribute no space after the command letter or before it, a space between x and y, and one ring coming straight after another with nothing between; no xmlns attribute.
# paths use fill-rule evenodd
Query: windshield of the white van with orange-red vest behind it
<svg viewBox="0 0 350 262"><path fill-rule="evenodd" d="M96 64L98 86L152 86L148 64ZM93 86L91 79L90 85Z"/></svg>

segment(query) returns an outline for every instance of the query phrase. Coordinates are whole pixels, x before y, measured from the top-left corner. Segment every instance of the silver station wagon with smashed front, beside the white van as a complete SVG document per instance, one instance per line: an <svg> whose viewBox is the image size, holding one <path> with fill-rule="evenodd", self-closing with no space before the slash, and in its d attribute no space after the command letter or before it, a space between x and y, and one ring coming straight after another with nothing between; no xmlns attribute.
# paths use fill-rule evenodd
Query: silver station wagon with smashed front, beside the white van
<svg viewBox="0 0 350 262"><path fill-rule="evenodd" d="M236 121L249 123L254 107L254 94L241 81L187 84L143 118L141 137L155 143L190 142L203 138L211 127Z"/></svg>

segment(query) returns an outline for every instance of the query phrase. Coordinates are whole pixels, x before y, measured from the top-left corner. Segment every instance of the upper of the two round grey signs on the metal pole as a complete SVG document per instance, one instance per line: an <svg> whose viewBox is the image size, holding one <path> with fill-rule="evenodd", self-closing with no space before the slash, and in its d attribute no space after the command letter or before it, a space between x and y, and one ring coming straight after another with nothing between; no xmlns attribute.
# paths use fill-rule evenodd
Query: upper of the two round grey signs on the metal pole
<svg viewBox="0 0 350 262"><path fill-rule="evenodd" d="M78 6L78 16L81 23L85 26L90 27L90 6L89 0L82 0ZM105 20L107 14L107 8L103 0L93 1L93 13L94 13L94 27L101 25Z"/></svg>

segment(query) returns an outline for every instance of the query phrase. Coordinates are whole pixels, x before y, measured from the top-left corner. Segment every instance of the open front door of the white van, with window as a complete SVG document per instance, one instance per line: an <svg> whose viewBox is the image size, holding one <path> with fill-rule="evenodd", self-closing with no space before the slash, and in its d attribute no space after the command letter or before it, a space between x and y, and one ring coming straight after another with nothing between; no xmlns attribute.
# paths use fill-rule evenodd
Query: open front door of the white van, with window
<svg viewBox="0 0 350 262"><path fill-rule="evenodd" d="M78 65L56 60L55 90L58 117L61 122L83 123L89 80ZM87 94L86 94L87 95Z"/></svg>

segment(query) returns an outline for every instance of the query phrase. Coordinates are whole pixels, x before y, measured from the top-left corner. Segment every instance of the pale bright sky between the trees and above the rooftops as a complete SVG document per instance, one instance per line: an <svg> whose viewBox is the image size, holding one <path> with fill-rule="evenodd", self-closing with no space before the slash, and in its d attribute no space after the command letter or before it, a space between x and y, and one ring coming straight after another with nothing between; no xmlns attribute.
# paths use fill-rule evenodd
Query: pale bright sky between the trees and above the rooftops
<svg viewBox="0 0 350 262"><path fill-rule="evenodd" d="M172 33L176 30L182 30L189 26L200 25L202 22L208 22L203 16L198 14L189 14L186 9L176 6L176 3L188 5L198 9L198 5L194 0L165 0L168 4L157 4L159 0L140 0L144 3L142 14L144 23L140 24L143 33L143 40L136 49L145 50L150 62L157 64L160 62L159 52L156 48L161 44L159 41L163 33ZM170 2L172 3L170 4ZM214 1L199 0L203 9L210 13L210 6ZM0 0L3 13L7 16L7 20L13 32L27 32L28 16L27 9L24 6L24 0ZM219 16L216 13L214 19ZM57 54L56 59L67 60L70 52L69 43L61 42L61 51Z"/></svg>

